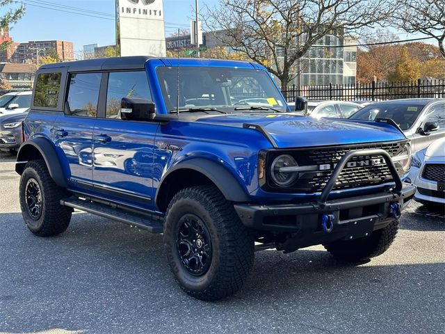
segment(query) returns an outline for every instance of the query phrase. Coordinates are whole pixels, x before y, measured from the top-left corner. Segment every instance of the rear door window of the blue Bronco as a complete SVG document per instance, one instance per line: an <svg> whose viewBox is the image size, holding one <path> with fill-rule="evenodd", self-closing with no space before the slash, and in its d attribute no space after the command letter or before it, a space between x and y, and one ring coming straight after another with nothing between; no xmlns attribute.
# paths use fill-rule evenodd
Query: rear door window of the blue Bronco
<svg viewBox="0 0 445 334"><path fill-rule="evenodd" d="M97 116L97 101L102 73L72 73L67 108L72 116Z"/></svg>

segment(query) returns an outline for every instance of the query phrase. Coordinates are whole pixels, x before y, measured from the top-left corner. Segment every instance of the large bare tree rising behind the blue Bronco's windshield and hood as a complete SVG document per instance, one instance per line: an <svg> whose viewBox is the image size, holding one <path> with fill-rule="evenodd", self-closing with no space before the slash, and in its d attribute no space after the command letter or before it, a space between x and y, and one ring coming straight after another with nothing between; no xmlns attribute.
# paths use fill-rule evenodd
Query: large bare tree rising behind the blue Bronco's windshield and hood
<svg viewBox="0 0 445 334"><path fill-rule="evenodd" d="M207 29L235 51L264 65L282 90L298 72L298 59L325 35L344 35L382 22L387 0L220 0L203 15Z"/></svg>

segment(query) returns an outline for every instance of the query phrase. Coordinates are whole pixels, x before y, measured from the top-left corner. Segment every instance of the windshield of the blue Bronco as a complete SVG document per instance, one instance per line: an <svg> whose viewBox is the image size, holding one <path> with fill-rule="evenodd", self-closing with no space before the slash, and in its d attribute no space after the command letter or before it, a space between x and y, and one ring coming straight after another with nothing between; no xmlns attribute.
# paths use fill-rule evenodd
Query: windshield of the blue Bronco
<svg viewBox="0 0 445 334"><path fill-rule="evenodd" d="M287 111L282 96L263 70L179 67L179 84L177 67L158 67L157 74L168 111L176 110L177 95L179 109L218 108L233 112L237 107L264 106Z"/></svg>

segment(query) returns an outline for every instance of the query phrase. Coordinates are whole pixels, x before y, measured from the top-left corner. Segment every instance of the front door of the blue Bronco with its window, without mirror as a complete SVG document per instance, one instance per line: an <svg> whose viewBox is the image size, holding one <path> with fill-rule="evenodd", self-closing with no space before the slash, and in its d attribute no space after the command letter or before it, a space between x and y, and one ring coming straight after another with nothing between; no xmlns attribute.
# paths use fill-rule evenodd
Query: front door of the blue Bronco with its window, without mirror
<svg viewBox="0 0 445 334"><path fill-rule="evenodd" d="M122 120L122 97L152 100L145 71L110 72L106 111L93 133L94 186L108 198L138 207L153 205L153 152L157 123Z"/></svg>

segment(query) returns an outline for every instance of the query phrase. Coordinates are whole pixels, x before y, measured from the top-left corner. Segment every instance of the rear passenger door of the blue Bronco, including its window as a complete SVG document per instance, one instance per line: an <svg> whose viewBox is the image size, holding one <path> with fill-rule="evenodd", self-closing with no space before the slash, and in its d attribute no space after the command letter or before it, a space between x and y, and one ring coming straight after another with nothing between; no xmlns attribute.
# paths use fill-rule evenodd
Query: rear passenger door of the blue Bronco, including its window
<svg viewBox="0 0 445 334"><path fill-rule="evenodd" d="M92 132L97 120L102 73L69 73L64 113L54 123L60 161L74 188L92 186Z"/></svg>

